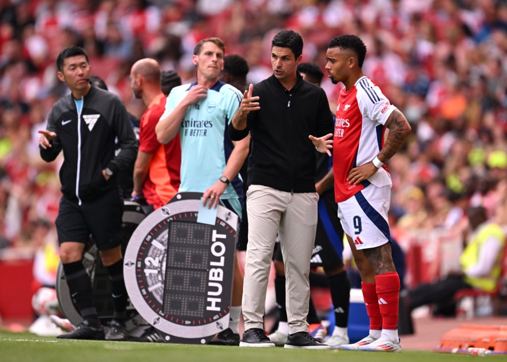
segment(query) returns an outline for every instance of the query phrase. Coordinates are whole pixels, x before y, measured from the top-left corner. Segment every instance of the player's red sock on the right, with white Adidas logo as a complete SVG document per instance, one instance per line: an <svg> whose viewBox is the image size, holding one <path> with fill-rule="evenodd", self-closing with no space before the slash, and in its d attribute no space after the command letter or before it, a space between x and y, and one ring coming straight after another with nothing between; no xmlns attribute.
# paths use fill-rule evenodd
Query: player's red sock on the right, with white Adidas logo
<svg viewBox="0 0 507 362"><path fill-rule="evenodd" d="M375 276L375 282L380 314L382 314L382 329L397 329L400 276L397 272L392 271Z"/></svg>

